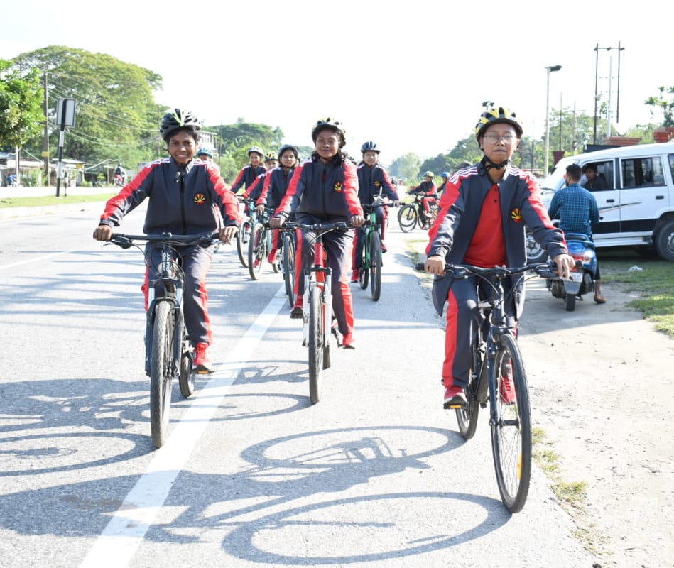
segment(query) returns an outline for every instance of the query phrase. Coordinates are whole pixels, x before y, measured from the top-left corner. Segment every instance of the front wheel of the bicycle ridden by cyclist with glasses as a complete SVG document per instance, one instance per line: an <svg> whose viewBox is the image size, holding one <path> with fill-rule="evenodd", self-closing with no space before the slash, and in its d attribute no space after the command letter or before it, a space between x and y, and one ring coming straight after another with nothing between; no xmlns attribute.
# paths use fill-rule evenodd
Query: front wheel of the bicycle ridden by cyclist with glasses
<svg viewBox="0 0 674 568"><path fill-rule="evenodd" d="M510 361L514 402L507 404L501 396L504 368ZM526 372L517 342L510 334L501 335L494 359L496 373L496 411L498 420L491 425L491 449L496 481L506 509L522 510L531 481L531 408Z"/></svg>

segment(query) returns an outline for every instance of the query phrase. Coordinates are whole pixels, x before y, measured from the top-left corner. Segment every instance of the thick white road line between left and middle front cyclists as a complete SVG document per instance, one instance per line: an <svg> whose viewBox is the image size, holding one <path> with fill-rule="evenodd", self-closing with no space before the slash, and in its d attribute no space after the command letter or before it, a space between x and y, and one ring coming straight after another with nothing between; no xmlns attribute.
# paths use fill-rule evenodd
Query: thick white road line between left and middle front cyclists
<svg viewBox="0 0 674 568"><path fill-rule="evenodd" d="M80 564L81 568L109 566L112 559L116 568L128 566L202 432L285 302L285 288L281 286L237 345L229 350L210 381L195 393L183 418L175 425L167 442L156 450L141 479L97 537ZM200 405L200 399L204 397L208 399Z"/></svg>

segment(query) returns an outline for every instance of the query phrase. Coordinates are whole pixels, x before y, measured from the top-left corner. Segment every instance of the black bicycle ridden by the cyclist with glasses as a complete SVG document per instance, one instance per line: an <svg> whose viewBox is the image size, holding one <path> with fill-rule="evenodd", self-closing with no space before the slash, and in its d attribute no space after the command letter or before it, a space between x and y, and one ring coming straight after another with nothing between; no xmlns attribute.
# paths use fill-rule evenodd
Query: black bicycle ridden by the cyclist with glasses
<svg viewBox="0 0 674 568"><path fill-rule="evenodd" d="M423 270L423 263L417 268ZM503 280L529 271L541 276L549 267L529 264L521 268L479 268L456 264L445 266L445 271L455 279L475 275L494 292L491 298L479 300L474 311L472 365L464 389L467 404L450 408L456 410L462 437L469 440L477 428L479 409L489 403L491 450L501 501L510 513L517 513L524 506L531 479L531 409L515 328L505 309L512 291L506 296ZM512 383L514 396L504 395L504 378Z"/></svg>

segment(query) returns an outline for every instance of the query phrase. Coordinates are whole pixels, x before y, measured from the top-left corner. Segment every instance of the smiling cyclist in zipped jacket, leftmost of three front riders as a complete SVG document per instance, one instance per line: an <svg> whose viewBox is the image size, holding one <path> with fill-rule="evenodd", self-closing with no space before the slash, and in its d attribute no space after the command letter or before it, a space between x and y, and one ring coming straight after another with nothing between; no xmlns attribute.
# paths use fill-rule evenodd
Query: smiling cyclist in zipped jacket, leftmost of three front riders
<svg viewBox="0 0 674 568"><path fill-rule="evenodd" d="M202 234L219 231L220 240L229 243L237 234L239 207L237 198L224 185L214 166L195 159L199 143L200 123L190 111L175 109L164 115L161 136L168 144L170 158L148 163L118 195L105 204L94 239L109 241L112 227L119 226L124 216L148 198L143 232ZM218 209L225 212L224 218ZM206 275L212 247L175 246L185 272L185 325L195 348L194 368L210 373L207 348L212 341L208 317ZM161 250L148 244L148 270L141 290L148 308L150 267L157 266Z"/></svg>

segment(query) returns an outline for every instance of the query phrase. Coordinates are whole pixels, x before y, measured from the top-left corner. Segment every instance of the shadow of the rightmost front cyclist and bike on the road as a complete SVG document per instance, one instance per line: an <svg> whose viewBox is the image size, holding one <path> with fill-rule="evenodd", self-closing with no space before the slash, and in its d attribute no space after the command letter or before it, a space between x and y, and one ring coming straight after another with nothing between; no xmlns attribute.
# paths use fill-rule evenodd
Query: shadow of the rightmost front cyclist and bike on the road
<svg viewBox="0 0 674 568"><path fill-rule="evenodd" d="M168 523L151 525L145 537L185 544L199 542L205 530L219 530L225 533L222 550L227 554L251 562L286 565L349 564L451 547L506 523L510 515L501 502L454 491L410 488L370 494L368 488L379 477L407 469L429 469L426 459L461 444L456 432L405 425L321 430L266 440L241 452L247 464L241 471L183 471L164 503L165 510L180 513ZM120 508L124 510L120 514L134 522L134 506L124 503L124 498L137 480L137 476L116 476L0 496L0 525L21 535L98 535L109 515ZM447 482L451 484L451 479ZM357 486L361 488L354 494ZM322 493L344 491L349 494L316 501ZM301 502L308 498L314 501ZM464 515L456 527L450 522L443 523L440 530L428 528L428 523L419 523L418 513L428 514L430 501L437 500L445 502L444 510L470 506L479 514ZM10 513L31 510L35 503L40 503L40 515ZM413 514L401 514L404 510ZM325 535L326 525L345 531L347 540L328 543L334 545L330 554L307 555L305 535L308 531ZM347 545L356 547L362 530L409 536L402 546L399 538L388 541L395 547L374 539L371 542L379 542L375 548L380 550L333 554ZM305 554L268 550L275 543L283 543L281 547L286 549L300 547Z"/></svg>

